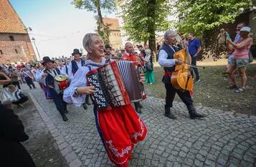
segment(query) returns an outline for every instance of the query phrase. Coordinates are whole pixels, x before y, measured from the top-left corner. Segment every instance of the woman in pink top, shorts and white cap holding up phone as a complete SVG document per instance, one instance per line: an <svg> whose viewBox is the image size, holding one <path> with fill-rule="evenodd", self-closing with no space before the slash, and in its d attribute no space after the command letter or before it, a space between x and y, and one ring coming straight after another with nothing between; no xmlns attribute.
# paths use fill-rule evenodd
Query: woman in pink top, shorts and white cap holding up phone
<svg viewBox="0 0 256 167"><path fill-rule="evenodd" d="M249 63L249 49L252 46L252 38L248 37L250 30L251 29L248 26L240 29L240 36L242 40L237 41L237 43L232 42L231 39L227 39L229 50L234 51L232 55L232 62L227 68L227 74L232 81L232 86L228 86L227 88L237 88L237 81L233 71L238 69L241 78L241 88L235 91L237 93L245 91L245 86L247 83L245 71L246 66Z"/></svg>

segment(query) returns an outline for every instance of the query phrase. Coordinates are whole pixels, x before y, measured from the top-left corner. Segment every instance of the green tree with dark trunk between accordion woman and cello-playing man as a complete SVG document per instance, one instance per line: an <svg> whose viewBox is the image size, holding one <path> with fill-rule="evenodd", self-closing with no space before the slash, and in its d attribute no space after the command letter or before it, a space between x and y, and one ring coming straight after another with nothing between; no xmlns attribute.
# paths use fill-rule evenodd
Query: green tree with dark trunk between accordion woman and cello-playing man
<svg viewBox="0 0 256 167"><path fill-rule="evenodd" d="M121 6L118 14L123 19L124 36L132 41L144 41L156 56L156 31L166 31L170 22L166 20L170 10L166 0L132 0Z"/></svg>

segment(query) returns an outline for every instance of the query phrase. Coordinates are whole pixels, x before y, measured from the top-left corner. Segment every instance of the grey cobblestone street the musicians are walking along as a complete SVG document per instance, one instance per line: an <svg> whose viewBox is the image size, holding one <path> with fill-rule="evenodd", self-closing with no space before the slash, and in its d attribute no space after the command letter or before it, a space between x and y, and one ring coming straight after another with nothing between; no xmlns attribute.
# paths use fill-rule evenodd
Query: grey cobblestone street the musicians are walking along
<svg viewBox="0 0 256 167"><path fill-rule="evenodd" d="M85 111L68 105L69 121L64 122L42 89L29 94L70 166L113 166L98 136L92 106ZM163 116L163 105L163 99L143 101L140 116L148 136L134 148L130 166L256 166L255 120L207 107L198 108L207 118L191 120L183 103L174 104L178 119L171 120Z"/></svg>

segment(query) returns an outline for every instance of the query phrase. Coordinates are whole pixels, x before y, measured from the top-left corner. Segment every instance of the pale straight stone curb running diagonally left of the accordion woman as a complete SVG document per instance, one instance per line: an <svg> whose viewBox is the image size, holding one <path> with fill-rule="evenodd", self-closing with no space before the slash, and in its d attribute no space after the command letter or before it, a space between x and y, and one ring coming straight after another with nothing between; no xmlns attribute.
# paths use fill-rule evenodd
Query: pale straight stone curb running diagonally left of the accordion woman
<svg viewBox="0 0 256 167"><path fill-rule="evenodd" d="M62 156L65 157L67 163L69 163L70 167L80 167L82 166L82 162L75 154L75 151L72 150L72 146L70 146L67 141L65 141L65 138L62 136L60 131L54 126L54 123L52 122L51 118L47 116L47 114L44 112L43 108L39 105L37 100L34 98L34 95L30 92L29 96L32 99L34 106L36 106L37 111L39 112L40 116L42 117L42 120L46 124L49 132L52 134L52 137L56 141L58 148L60 149L60 152L62 153Z"/></svg>

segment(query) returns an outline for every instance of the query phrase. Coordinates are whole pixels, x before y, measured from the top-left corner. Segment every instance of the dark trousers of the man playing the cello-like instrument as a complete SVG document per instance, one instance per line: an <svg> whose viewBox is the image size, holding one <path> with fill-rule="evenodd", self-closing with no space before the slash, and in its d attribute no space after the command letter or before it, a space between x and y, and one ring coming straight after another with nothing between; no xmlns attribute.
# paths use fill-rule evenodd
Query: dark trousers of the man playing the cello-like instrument
<svg viewBox="0 0 256 167"><path fill-rule="evenodd" d="M181 98L181 101L186 104L186 106L193 104L189 91L177 90L171 85L171 83L164 84L164 86L166 87L166 107L172 107L176 93L179 95L179 98Z"/></svg>

